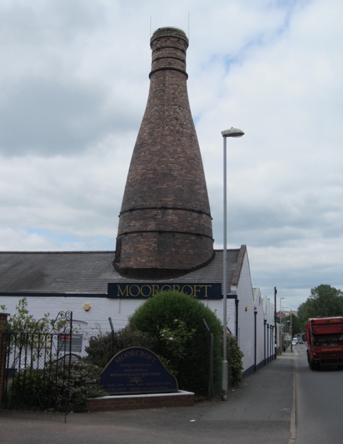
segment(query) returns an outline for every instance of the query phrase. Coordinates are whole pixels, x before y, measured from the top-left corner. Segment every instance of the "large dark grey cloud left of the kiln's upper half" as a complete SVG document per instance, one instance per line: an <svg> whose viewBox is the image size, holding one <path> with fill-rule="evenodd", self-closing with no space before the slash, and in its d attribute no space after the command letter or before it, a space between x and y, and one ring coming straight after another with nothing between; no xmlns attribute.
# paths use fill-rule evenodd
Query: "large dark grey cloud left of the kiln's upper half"
<svg viewBox="0 0 343 444"><path fill-rule="evenodd" d="M0 153L54 156L81 151L111 132L136 125L121 99L106 90L56 79L29 78L0 99Z"/></svg>

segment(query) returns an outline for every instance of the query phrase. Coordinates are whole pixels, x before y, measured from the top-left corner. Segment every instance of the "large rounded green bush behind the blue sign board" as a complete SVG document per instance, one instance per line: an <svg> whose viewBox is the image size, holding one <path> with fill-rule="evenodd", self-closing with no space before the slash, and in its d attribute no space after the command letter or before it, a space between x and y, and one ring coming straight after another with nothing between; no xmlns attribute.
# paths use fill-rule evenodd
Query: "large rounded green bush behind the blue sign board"
<svg viewBox="0 0 343 444"><path fill-rule="evenodd" d="M220 388L222 324L202 302L177 291L157 293L129 319L132 328L156 339L152 350L176 375L181 390L206 395L208 380L207 325L213 332L214 387Z"/></svg>

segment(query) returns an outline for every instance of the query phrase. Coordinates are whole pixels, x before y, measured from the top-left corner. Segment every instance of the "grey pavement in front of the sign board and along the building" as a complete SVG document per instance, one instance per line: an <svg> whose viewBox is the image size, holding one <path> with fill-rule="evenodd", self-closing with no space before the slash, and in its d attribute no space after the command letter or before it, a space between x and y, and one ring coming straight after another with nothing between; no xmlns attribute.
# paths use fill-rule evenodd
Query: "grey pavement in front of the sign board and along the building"
<svg viewBox="0 0 343 444"><path fill-rule="evenodd" d="M71 413L0 411L1 444L292 444L295 362L289 349L241 380L226 401L192 407Z"/></svg>

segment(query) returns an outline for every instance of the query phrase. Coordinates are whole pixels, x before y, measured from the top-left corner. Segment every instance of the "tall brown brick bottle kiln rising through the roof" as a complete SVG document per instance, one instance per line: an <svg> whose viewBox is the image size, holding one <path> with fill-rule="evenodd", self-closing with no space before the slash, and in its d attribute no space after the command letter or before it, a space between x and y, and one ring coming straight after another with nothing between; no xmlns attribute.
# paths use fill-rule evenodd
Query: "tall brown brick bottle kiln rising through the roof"
<svg viewBox="0 0 343 444"><path fill-rule="evenodd" d="M150 91L124 190L115 269L139 279L175 277L213 258L212 219L187 93L188 38L154 32Z"/></svg>

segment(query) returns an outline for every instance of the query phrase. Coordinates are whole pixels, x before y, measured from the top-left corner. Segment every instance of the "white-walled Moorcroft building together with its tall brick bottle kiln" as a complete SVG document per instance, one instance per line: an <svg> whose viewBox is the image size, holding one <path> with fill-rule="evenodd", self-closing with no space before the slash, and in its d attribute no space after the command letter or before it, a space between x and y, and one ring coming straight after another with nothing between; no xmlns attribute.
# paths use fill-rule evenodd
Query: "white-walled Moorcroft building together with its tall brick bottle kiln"
<svg viewBox="0 0 343 444"><path fill-rule="evenodd" d="M115 251L2 252L0 304L13 313L27 297L36 319L71 310L79 329L123 328L146 297L166 288L189 293L220 320L223 251L213 249L212 218L187 95L188 38L154 32L150 93L134 146ZM228 328L244 371L274 354L274 310L252 288L246 245L228 250Z"/></svg>

